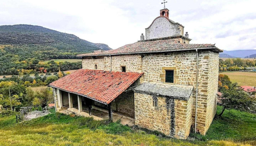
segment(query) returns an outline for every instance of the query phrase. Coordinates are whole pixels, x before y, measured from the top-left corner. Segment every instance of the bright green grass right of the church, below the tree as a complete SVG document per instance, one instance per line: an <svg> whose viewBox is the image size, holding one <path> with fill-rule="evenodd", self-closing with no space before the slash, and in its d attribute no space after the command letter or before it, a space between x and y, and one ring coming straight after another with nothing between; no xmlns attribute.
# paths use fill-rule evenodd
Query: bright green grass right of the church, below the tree
<svg viewBox="0 0 256 146"><path fill-rule="evenodd" d="M222 107L217 107L217 115ZM256 114L240 112L237 110L225 110L222 117L212 121L206 135L191 133L191 137L199 140L232 140L256 142ZM256 143L255 143L256 144Z"/></svg>

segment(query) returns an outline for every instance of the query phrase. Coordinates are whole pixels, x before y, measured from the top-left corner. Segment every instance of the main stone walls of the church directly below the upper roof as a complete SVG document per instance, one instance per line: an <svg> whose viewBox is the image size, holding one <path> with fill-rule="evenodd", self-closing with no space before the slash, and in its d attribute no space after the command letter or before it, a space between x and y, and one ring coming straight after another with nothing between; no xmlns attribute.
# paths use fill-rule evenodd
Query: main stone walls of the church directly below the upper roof
<svg viewBox="0 0 256 146"><path fill-rule="evenodd" d="M193 126L195 122L196 51L144 55L144 57L139 54L112 56L112 70L121 71L121 66L126 66L127 72L144 72L140 80L146 82L165 82L164 68L174 70L175 84L194 86L191 99L193 103L191 123ZM210 50L199 50L197 131L203 135L206 134L216 112L218 58L218 53ZM83 58L83 69L94 69L95 62L98 63L98 69L110 70L111 61L109 56L96 59ZM189 122L188 126L191 126Z"/></svg>

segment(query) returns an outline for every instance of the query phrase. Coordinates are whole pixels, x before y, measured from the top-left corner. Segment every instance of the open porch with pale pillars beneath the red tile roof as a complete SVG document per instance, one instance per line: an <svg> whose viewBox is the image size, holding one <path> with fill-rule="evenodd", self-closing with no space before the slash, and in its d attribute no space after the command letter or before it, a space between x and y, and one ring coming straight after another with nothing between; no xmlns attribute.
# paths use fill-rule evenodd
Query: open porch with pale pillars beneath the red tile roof
<svg viewBox="0 0 256 146"><path fill-rule="evenodd" d="M57 89L57 96L59 106L61 107L59 110L60 113L93 117L95 120L111 119L113 122L121 120L121 124L128 126L133 126L135 124L134 118L131 118L129 115L125 115L124 113L112 110L112 102L109 104L102 104L87 97L60 89Z"/></svg>

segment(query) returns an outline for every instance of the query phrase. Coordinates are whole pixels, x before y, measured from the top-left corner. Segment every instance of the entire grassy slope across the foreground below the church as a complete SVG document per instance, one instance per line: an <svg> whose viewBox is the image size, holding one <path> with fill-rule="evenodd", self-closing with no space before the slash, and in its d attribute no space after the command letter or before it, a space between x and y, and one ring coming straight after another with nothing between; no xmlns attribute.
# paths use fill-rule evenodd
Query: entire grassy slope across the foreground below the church
<svg viewBox="0 0 256 146"><path fill-rule="evenodd" d="M217 108L217 113L221 112ZM1 146L253 146L256 145L256 115L226 110L214 119L205 136L188 140L166 138L120 123L96 121L55 113L15 124L15 116L0 118Z"/></svg>

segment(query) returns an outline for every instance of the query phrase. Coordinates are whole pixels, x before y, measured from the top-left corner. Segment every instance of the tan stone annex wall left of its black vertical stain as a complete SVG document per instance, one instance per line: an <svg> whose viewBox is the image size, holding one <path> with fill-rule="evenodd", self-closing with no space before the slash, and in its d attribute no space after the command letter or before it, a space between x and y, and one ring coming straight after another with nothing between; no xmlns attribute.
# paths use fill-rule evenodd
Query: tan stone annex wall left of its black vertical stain
<svg viewBox="0 0 256 146"><path fill-rule="evenodd" d="M160 96L157 97L158 107L153 107L152 97L148 94L135 93L135 125L157 130L165 135L172 134L172 109L167 105L166 98Z"/></svg>

